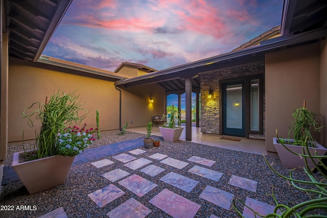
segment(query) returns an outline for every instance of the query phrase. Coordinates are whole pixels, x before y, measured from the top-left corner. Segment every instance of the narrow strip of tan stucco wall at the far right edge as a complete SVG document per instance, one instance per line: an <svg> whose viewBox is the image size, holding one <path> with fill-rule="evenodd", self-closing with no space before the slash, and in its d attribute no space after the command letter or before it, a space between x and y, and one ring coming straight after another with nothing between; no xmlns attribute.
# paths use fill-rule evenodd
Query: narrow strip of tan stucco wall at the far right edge
<svg viewBox="0 0 327 218"><path fill-rule="evenodd" d="M320 143L327 147L327 40L320 46L320 113L323 115L324 128L321 130Z"/></svg>

